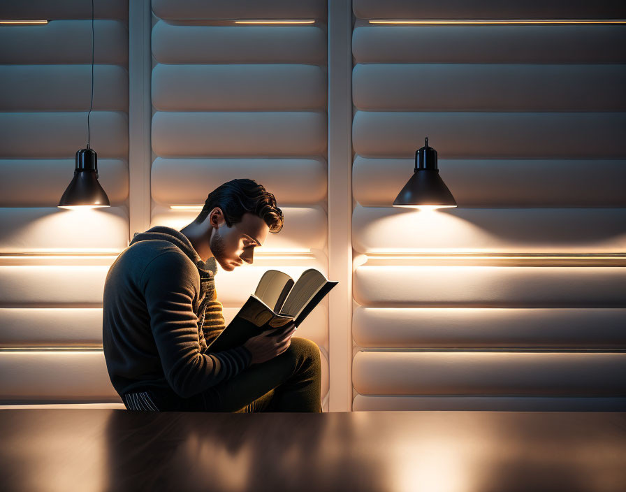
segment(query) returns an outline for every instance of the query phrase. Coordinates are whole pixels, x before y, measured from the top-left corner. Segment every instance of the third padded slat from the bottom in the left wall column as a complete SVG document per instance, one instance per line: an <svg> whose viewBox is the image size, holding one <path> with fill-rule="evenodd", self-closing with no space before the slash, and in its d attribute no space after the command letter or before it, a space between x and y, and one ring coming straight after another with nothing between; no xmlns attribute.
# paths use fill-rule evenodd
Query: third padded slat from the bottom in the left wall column
<svg viewBox="0 0 626 492"><path fill-rule="evenodd" d="M0 266L1 307L101 307L108 266Z"/></svg>

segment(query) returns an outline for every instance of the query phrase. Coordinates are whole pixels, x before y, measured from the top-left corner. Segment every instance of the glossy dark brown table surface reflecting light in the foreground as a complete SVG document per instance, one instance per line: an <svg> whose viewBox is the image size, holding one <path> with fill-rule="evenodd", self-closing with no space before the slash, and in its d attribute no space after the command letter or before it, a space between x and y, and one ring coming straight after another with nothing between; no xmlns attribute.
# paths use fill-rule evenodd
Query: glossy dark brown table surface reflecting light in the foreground
<svg viewBox="0 0 626 492"><path fill-rule="evenodd" d="M23 491L625 491L626 414L0 410Z"/></svg>

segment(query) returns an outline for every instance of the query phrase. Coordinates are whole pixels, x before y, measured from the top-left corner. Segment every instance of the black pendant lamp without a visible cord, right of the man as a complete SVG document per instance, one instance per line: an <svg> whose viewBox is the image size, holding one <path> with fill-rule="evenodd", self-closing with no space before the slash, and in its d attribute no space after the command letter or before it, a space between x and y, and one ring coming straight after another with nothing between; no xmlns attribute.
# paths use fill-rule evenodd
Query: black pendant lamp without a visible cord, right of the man
<svg viewBox="0 0 626 492"><path fill-rule="evenodd" d="M437 151L428 146L428 137L424 146L415 152L414 174L393 201L393 206L425 210L456 207L454 197L439 176Z"/></svg>

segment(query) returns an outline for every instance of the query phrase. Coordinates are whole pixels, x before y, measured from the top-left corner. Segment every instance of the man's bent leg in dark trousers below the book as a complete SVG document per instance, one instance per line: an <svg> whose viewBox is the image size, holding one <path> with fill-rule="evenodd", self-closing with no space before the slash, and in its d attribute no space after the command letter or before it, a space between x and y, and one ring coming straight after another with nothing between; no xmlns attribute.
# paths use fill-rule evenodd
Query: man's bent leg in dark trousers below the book
<svg viewBox="0 0 626 492"><path fill-rule="evenodd" d="M205 412L321 412L319 347L291 338L282 354L201 393Z"/></svg>

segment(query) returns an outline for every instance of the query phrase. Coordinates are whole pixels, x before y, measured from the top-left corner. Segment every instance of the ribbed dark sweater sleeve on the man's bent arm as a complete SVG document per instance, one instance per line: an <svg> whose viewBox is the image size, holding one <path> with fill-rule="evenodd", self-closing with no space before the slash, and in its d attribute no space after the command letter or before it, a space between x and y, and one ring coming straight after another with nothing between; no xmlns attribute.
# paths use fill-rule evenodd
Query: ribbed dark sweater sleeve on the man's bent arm
<svg viewBox="0 0 626 492"><path fill-rule="evenodd" d="M237 375L252 361L245 347L201 353L194 265L177 252L164 252L144 270L143 285L150 328L168 384L182 398Z"/></svg>

